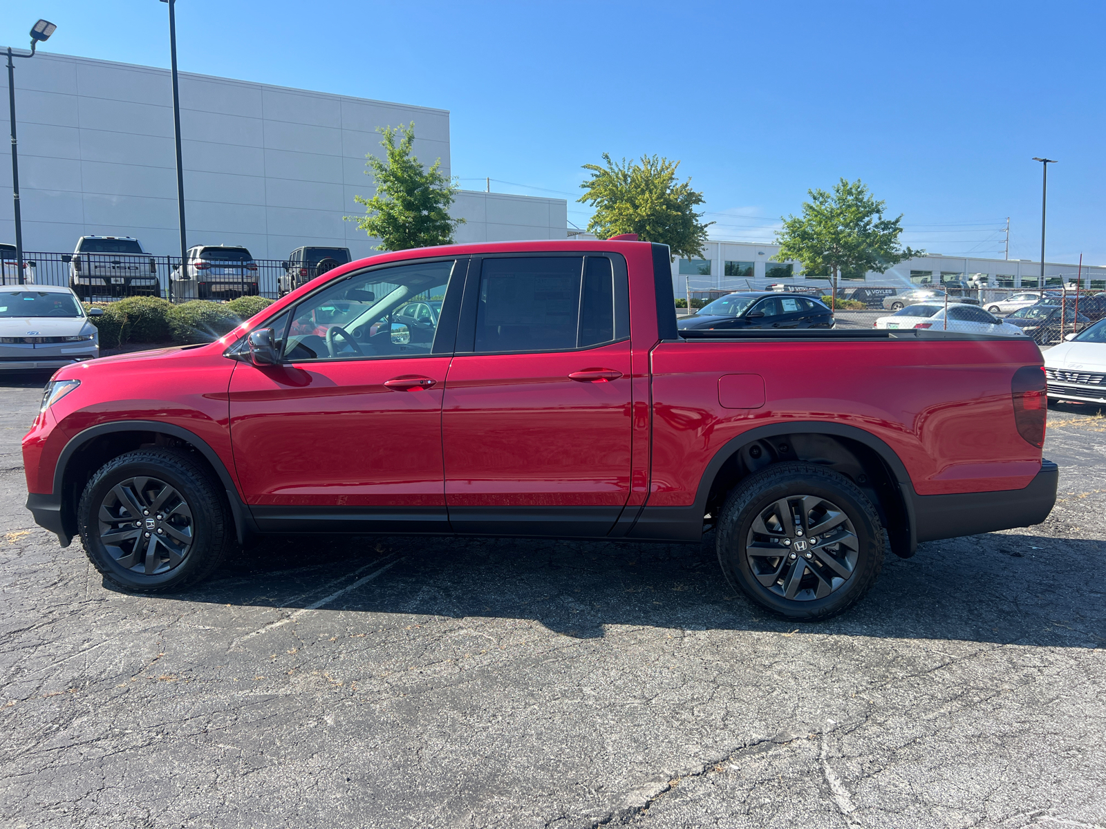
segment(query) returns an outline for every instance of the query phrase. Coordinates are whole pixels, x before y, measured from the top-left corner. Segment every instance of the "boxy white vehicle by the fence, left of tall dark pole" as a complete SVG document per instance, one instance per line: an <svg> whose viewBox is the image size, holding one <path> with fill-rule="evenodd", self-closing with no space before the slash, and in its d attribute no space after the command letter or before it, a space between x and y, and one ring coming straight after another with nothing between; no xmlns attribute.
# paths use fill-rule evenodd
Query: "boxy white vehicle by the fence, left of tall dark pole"
<svg viewBox="0 0 1106 829"><path fill-rule="evenodd" d="M157 260L132 237L81 237L70 258L70 287L85 302L161 294Z"/></svg>

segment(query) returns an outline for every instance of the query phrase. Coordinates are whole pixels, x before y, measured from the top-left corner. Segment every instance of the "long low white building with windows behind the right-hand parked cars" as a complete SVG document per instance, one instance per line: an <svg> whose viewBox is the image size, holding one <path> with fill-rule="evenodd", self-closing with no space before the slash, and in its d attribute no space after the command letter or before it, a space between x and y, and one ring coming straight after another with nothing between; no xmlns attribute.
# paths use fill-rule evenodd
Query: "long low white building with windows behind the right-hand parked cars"
<svg viewBox="0 0 1106 829"><path fill-rule="evenodd" d="M806 283L801 263L772 260L779 251L779 245L759 242L708 242L703 259L677 259L672 263L676 296L687 298L689 291L692 296L703 296L710 288L761 290L772 283ZM1077 264L1048 262L1044 287L1074 284L1077 273ZM815 280L817 284L826 284L824 277ZM838 287L864 284L905 287L941 282L967 282L980 287L1042 287L1041 263L927 253L900 262L886 273L869 271L863 280L839 281ZM1081 282L1085 288L1106 291L1106 266L1084 264Z"/></svg>

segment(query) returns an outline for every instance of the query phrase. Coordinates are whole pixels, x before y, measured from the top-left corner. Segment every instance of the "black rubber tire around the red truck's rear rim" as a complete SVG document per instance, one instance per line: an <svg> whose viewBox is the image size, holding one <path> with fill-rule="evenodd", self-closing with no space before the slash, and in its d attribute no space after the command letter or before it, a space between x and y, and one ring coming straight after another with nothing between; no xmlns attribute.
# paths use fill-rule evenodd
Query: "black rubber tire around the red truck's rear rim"
<svg viewBox="0 0 1106 829"><path fill-rule="evenodd" d="M830 504L844 513L847 524L841 526L852 527L851 532L855 536L855 542L849 539L849 543L856 546L855 555L841 545L831 545L826 548L828 550L846 550L854 560L847 563L852 568L851 575L837 587L830 588L827 585L825 589L832 589L832 592L821 598L816 597L816 591L823 588L817 587L818 578L815 575L815 567L830 577L835 577L836 574L823 566L825 556L820 558L821 554L813 546L810 548L814 556L813 560L806 565L806 570L800 571L802 584L810 584L812 587L796 594L799 598L786 598L783 595L785 591L782 588L782 583L765 586L760 580L761 578L771 578L771 567L765 569L762 565L775 560L763 557L765 549L763 544L758 543L758 549L753 550L761 558L754 556L751 562L751 557L748 555L748 539L760 537L753 535L753 523L760 518L762 523L759 526L766 527L768 525L763 523L766 510L771 510L773 504L787 499L796 499L793 502L787 501L787 504L799 504L801 503L797 501L799 496L813 499L806 503L822 500L822 503ZM795 518L800 512L802 512L801 507L796 507L795 513L789 514L789 521ZM822 513L817 513L817 515L822 515ZM806 525L805 518L803 518L803 525ZM792 533L797 526L796 523L791 527ZM770 543L781 544L779 549L782 564L779 566L781 571L784 571L789 566L794 567L795 565L787 564L791 547L784 548L782 546L784 533L781 531L778 535L776 538L770 538ZM802 536L802 533L799 535ZM827 538L833 537L837 536L831 533L823 536L821 541L824 544ZM807 538L787 541L794 546L802 543L803 548L806 548ZM816 463L778 463L750 475L730 493L722 507L717 527L718 560L727 580L758 605L799 621L826 619L847 610L859 601L883 569L885 545L886 534L879 522L879 515L868 497L845 475ZM845 556L841 556L843 562L845 558ZM834 560L836 562L837 557ZM795 562L797 565L803 565L801 557ZM754 571L755 567L761 567L760 571ZM826 583L830 580L832 579L822 579Z"/></svg>

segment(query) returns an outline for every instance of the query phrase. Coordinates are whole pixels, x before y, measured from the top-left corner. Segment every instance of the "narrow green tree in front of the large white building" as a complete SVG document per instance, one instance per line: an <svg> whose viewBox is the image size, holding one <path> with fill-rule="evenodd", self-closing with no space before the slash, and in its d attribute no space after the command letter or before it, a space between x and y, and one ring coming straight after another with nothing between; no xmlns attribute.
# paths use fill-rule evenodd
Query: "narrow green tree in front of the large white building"
<svg viewBox="0 0 1106 829"><path fill-rule="evenodd" d="M365 175L374 178L376 195L371 199L354 196L365 206L365 216L347 216L346 221L357 222L369 237L379 239L378 251L452 244L453 228L465 220L449 216L458 188L441 172L441 159L424 170L411 155L415 122L376 132L384 136L385 157L365 156Z"/></svg>

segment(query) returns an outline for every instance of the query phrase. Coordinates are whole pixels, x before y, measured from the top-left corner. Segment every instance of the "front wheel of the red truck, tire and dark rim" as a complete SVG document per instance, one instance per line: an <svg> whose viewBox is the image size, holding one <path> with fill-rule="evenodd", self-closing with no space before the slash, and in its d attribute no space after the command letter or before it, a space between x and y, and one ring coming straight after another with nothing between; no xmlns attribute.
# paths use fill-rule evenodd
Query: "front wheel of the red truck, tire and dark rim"
<svg viewBox="0 0 1106 829"><path fill-rule="evenodd" d="M188 453L138 449L92 476L77 506L85 554L104 578L165 592L210 575L234 543L226 499Z"/></svg>

